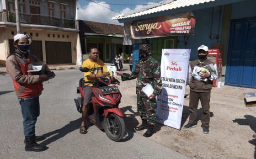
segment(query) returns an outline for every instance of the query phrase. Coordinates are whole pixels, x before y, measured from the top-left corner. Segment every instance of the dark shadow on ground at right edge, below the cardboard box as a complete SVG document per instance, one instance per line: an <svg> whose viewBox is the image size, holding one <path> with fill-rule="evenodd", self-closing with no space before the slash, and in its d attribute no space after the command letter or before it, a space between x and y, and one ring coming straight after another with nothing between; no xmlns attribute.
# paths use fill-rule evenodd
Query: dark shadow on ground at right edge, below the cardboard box
<svg viewBox="0 0 256 159"><path fill-rule="evenodd" d="M251 130L256 132L256 117L253 117L251 115L245 115L244 117L245 119L235 119L233 120L233 122L237 122L239 125L248 125L249 127L251 127ZM248 142L256 146L256 139L252 139ZM254 158L256 159L256 147L254 151Z"/></svg>

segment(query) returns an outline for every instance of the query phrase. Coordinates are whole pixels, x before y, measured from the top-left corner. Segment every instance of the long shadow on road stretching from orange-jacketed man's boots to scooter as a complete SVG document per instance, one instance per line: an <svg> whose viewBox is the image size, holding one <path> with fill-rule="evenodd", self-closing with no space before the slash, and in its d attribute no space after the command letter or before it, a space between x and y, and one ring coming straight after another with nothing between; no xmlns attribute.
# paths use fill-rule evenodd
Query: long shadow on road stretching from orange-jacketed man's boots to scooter
<svg viewBox="0 0 256 159"><path fill-rule="evenodd" d="M59 128L57 130L54 130L52 132L48 132L46 134L43 134L43 136L45 136L46 138L48 138L51 135L54 135L51 138L48 138L46 140L44 140L41 144L43 145L48 145L50 143L55 142L56 140L63 138L65 135L67 135L69 132L73 132L76 129L78 129L80 127L81 124L81 118L78 118L74 121L69 122L67 125L65 125L62 128Z"/></svg>

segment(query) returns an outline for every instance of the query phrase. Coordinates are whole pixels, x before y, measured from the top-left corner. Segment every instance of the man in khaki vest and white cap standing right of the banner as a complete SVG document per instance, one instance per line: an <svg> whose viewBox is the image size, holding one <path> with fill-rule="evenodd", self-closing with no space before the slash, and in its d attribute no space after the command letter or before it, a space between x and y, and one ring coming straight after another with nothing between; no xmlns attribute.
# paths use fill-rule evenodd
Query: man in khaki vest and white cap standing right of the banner
<svg viewBox="0 0 256 159"><path fill-rule="evenodd" d="M200 46L197 49L198 59L192 61L189 66L189 80L190 81L190 94L189 94L189 122L185 125L184 129L190 129L191 127L197 126L197 106L198 101L201 101L203 114L201 116L203 133L209 133L209 122L210 122L210 97L211 97L211 89L213 85L213 80L216 80L218 77L216 64L207 59L208 55L208 47ZM192 71L195 66L203 67L209 64L214 64L216 74L209 74L208 72L200 72L200 76L203 80L196 80L192 77Z"/></svg>

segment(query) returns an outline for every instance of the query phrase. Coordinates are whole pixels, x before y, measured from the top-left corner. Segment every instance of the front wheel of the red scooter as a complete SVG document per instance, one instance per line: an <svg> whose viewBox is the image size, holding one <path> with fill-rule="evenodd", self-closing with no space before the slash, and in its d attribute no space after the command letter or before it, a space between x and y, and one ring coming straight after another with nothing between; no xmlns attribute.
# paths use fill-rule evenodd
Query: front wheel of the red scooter
<svg viewBox="0 0 256 159"><path fill-rule="evenodd" d="M122 117L114 113L110 113L104 118L104 130L107 137L113 141L120 141L123 139L125 132L125 124Z"/></svg>

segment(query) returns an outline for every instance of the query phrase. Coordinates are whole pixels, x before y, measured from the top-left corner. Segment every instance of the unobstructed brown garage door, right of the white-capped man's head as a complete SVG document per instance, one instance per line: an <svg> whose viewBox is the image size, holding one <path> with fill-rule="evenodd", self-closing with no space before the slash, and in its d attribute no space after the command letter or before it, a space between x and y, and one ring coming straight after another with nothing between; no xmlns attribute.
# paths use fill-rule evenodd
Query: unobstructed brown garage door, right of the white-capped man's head
<svg viewBox="0 0 256 159"><path fill-rule="evenodd" d="M45 42L47 64L71 64L71 42Z"/></svg>

